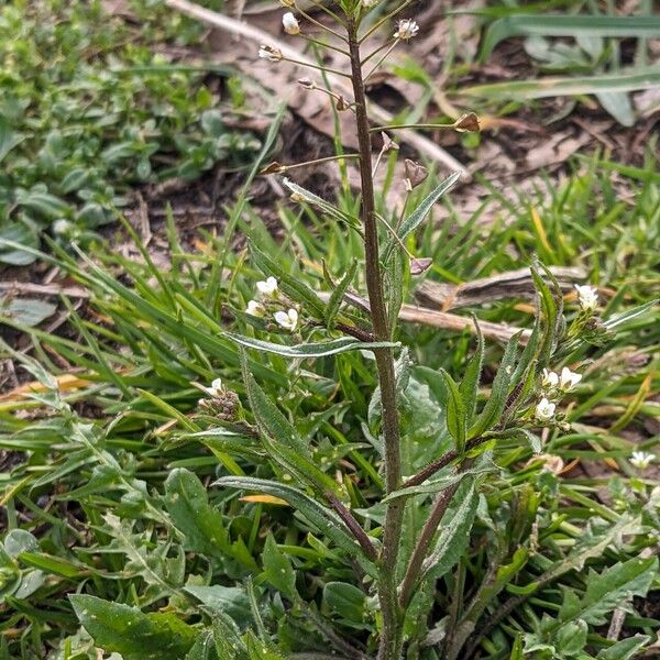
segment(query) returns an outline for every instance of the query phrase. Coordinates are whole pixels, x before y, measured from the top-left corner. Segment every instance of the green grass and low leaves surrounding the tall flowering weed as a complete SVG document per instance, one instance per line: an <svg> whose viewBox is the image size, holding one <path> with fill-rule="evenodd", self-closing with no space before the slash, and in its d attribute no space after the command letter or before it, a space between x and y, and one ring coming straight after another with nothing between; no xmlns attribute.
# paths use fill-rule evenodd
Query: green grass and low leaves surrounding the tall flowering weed
<svg viewBox="0 0 660 660"><path fill-rule="evenodd" d="M433 256L431 278L450 282L520 267L535 254L548 264L580 265L590 282L609 292L603 297L607 318L659 292L660 187L646 176L654 166L649 158L636 176L622 174L615 187L616 165L598 157L579 160L568 183L559 188L548 184L537 195L520 195L515 204L493 191L481 211L461 218L448 202L443 219L427 222L417 240L408 240L409 246L419 255ZM351 210L348 202L341 204ZM480 224L480 215L496 204L503 210L495 224ZM544 235L532 223L530 209L539 213ZM271 238L258 210L249 205L234 215L234 231L248 233L254 245L311 288L327 288L322 261L338 279L360 257L355 234L334 220L288 206L280 209L280 218L289 230L283 244ZM218 608L216 601L200 606L199 594L202 604L211 598L205 585L240 587L249 578L250 588L263 602L257 614L264 619L265 639L283 650L327 648L329 634L318 617L323 626L363 641L374 630L372 605L354 601L358 594L341 586L352 583L352 569L323 534L288 507L267 499L243 502L235 491L210 487L217 477L231 474L278 474L286 482L286 474L251 440L244 426L253 424L248 410L241 408L240 420L222 430L223 425L197 404L198 385L217 376L244 400L238 349L226 333L238 330L263 337L258 323L242 314L262 274L246 253L224 251L229 235L207 237L204 254L180 248L172 221L168 235L173 267L167 273L158 272L148 258L130 262L105 250L94 261L64 252L44 256L84 284L94 311L79 316L72 310L73 332L67 337L20 328L31 338L34 360L6 348L44 388L0 403L0 448L23 452L20 463L0 475L8 521L0 657L94 658L91 642L80 632L65 597L75 592L138 605L144 612L157 607L182 622L177 625L185 622L184 638L193 639ZM118 279L119 273L127 277ZM409 297L416 283L405 284ZM514 301L474 311L481 319L520 327L532 321ZM504 442L496 450L504 473L491 476L482 491L485 508L480 509L473 531L473 541L481 539L482 544L458 572L443 579L446 585L436 596L442 608L442 594L458 587L455 580L476 584L488 566L519 560L503 591L482 593L455 614L484 622L527 593L526 585L540 581L540 588L529 592L526 603L514 607L484 638L485 657L508 657L506 649L518 635L536 629L541 638L537 619L543 612L557 612L560 586L583 593L583 576L570 570L572 551L590 558L588 564L602 572L654 543L653 482L631 468L628 458L632 449L653 447L644 425L660 416L660 407L646 400L660 385L659 320L654 307L607 345L581 350L571 359L585 374L569 407L573 427L569 433L551 431L543 451L566 464L579 459L598 465L600 475L558 477L542 469L542 461L530 461L530 449ZM315 330L304 334L314 338ZM425 373L443 367L460 374L472 342L465 336L414 326L404 326L398 339L425 367L413 371L415 387L407 391L404 410L404 455L414 471L449 442ZM501 346L487 345L487 371L496 369L501 354ZM370 506L382 480L374 440L364 433L375 384L366 359L344 353L292 363L276 354L249 355L250 371L311 442L315 463L330 477L338 470L344 474L352 508L363 520L372 520L377 536L381 514ZM67 391L62 378L70 375L79 381ZM59 393L54 378L63 383ZM631 440L624 429L635 430L642 440ZM609 493L606 503L594 498L598 488ZM178 497L190 508L177 508ZM503 536L488 532L487 512L498 518ZM625 544L603 541L612 534L606 524L628 530ZM538 550L522 561L514 551L518 542L527 542L531 526L538 528ZM217 540L209 546L209 538ZM275 540L271 550L268 538ZM598 542L608 550L597 550ZM282 604L267 587L274 580L267 568L272 562L284 562L283 570L290 562L298 572L305 571L297 590L317 603L318 614L292 596L288 616L277 624ZM201 588L197 595L193 585ZM231 603L230 616L244 604L245 593L222 593ZM156 625L150 622L141 625ZM635 614L626 617L629 632L649 635L657 625ZM422 639L426 631L419 626L413 634ZM594 635L595 648L605 648L603 637Z"/></svg>

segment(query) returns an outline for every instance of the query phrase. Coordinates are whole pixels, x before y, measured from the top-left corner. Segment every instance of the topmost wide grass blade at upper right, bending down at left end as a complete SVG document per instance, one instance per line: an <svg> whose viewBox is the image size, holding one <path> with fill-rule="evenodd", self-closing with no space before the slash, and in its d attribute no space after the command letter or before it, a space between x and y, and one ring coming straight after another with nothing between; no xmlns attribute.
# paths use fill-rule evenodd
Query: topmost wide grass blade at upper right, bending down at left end
<svg viewBox="0 0 660 660"><path fill-rule="evenodd" d="M493 48L510 36L618 36L658 37L660 18L652 15L603 16L580 14L514 14L494 21L484 35L480 61L484 63Z"/></svg>

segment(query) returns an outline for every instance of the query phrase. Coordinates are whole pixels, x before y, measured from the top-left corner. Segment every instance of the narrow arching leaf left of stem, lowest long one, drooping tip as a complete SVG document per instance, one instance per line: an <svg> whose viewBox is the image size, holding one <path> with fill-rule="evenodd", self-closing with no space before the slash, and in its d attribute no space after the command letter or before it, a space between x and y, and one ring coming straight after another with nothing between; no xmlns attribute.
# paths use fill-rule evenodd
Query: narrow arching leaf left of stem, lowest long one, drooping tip
<svg viewBox="0 0 660 660"><path fill-rule="evenodd" d="M300 512L311 525L324 534L339 548L355 557L360 565L372 576L375 576L375 566L366 558L362 548L348 531L342 519L331 509L322 506L298 488L265 479L250 476L223 476L215 482L216 486L239 488L242 491L256 491L266 495L274 495Z"/></svg>

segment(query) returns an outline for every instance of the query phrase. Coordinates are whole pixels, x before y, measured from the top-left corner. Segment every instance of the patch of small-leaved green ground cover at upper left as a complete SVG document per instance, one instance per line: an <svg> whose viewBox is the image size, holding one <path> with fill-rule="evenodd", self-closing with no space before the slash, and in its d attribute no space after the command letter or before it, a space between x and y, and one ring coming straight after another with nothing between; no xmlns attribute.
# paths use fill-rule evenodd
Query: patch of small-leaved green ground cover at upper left
<svg viewBox="0 0 660 660"><path fill-rule="evenodd" d="M142 8L138 15L151 20L136 36L98 1L0 9L2 238L37 246L47 231L62 244L89 241L136 186L252 160L258 141L226 128L206 72L156 48L173 35L172 19L154 12ZM196 32L177 25L179 42ZM32 258L0 252L4 264Z"/></svg>

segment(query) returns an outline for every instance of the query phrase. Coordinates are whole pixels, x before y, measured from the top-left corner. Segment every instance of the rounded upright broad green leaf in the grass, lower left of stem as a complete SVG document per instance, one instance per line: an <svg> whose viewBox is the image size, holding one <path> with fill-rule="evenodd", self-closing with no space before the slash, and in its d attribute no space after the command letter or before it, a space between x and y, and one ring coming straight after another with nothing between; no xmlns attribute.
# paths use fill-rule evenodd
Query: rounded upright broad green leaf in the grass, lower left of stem
<svg viewBox="0 0 660 660"><path fill-rule="evenodd" d="M184 549L208 557L229 552L222 515L210 504L196 474L178 468L165 481L165 507L174 526L184 536Z"/></svg>

